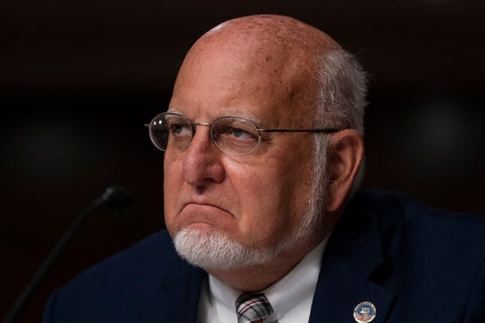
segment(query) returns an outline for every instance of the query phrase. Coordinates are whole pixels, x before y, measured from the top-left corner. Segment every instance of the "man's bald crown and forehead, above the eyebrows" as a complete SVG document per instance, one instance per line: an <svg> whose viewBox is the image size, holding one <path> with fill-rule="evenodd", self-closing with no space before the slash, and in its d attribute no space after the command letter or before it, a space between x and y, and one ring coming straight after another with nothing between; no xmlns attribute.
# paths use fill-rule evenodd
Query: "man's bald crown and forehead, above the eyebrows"
<svg viewBox="0 0 485 323"><path fill-rule="evenodd" d="M319 95L320 57L338 49L322 31L293 18L256 15L234 19L208 31L190 48L174 97L181 87L195 85L205 74L207 86L220 81L225 91L234 86L267 95L282 112L312 113Z"/></svg>

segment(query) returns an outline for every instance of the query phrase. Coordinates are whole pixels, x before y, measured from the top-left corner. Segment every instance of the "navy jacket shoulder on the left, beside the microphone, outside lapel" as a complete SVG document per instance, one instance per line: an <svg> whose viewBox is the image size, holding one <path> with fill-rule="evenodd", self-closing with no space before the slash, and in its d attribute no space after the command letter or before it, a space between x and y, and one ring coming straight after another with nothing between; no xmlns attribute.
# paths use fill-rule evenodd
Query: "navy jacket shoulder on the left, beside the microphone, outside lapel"
<svg viewBox="0 0 485 323"><path fill-rule="evenodd" d="M158 231L59 288L44 321L134 321L173 268L180 267L190 268L173 249L169 234Z"/></svg>

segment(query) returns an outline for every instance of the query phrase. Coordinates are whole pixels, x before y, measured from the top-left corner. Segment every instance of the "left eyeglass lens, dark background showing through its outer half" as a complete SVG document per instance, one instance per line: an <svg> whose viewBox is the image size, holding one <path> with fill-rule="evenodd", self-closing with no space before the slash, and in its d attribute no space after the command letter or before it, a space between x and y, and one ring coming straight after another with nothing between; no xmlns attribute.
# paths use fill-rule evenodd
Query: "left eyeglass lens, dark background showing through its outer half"
<svg viewBox="0 0 485 323"><path fill-rule="evenodd" d="M192 126L190 121L173 113L162 113L154 118L150 124L150 138L154 145L166 151L171 149L183 149L190 144L192 139Z"/></svg>

